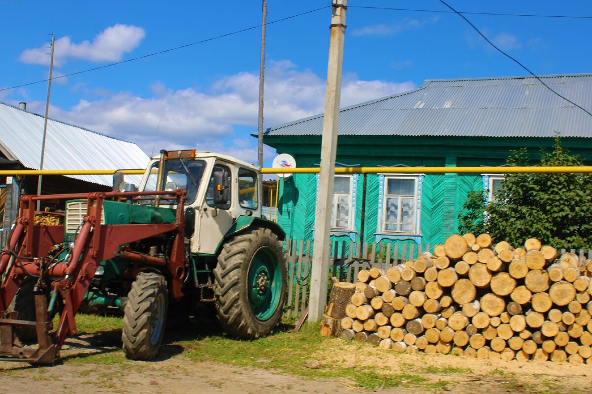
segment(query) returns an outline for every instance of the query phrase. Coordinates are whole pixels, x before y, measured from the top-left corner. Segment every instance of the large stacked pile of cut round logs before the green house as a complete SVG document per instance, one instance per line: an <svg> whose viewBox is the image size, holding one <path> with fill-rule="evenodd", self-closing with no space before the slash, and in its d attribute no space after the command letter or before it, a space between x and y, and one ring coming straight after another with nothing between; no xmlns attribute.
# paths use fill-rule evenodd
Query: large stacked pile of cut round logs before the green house
<svg viewBox="0 0 592 394"><path fill-rule="evenodd" d="M528 239L452 235L382 271L362 270L341 337L399 352L592 364L592 260Z"/></svg>

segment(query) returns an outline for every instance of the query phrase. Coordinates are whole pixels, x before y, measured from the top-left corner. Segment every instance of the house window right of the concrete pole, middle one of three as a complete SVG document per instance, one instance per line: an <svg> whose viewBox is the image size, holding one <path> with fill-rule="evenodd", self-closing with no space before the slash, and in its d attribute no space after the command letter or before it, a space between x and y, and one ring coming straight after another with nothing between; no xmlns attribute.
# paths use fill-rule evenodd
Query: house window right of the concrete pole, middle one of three
<svg viewBox="0 0 592 394"><path fill-rule="evenodd" d="M382 231L417 233L417 177L384 177Z"/></svg>

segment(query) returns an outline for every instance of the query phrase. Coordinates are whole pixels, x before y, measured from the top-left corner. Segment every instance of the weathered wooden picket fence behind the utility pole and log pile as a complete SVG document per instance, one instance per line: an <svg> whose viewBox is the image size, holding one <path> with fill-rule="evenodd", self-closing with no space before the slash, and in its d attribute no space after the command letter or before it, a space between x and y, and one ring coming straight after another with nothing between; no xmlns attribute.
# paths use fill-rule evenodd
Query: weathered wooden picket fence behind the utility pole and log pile
<svg viewBox="0 0 592 394"><path fill-rule="evenodd" d="M414 260L424 251L433 252L430 244L388 244L374 242L369 244L352 241L333 241L331 245L331 264L329 277L340 281L355 282L358 272L377 267L387 270L392 265ZM561 253L571 252L581 258L592 258L592 249L561 249ZM285 242L284 255L288 271L288 296L285 316L300 318L308 306L310 293L310 272L313 261L310 239L289 239ZM327 296L330 292L327 289Z"/></svg>

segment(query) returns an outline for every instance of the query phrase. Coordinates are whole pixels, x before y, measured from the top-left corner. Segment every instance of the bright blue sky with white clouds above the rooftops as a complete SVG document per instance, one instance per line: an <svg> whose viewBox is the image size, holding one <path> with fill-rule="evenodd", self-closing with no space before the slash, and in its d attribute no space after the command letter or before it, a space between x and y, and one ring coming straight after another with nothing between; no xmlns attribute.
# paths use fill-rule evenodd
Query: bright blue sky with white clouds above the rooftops
<svg viewBox="0 0 592 394"><path fill-rule="evenodd" d="M590 1L449 0L461 12L592 17ZM342 106L419 87L425 79L527 75L440 1L352 0ZM268 1L265 127L321 113L330 2ZM260 1L0 0L0 89L197 43L261 23ZM592 19L465 14L537 75L590 72ZM55 79L50 117L159 149L214 150L257 160L260 28L98 71ZM43 114L47 83L0 91ZM265 164L275 152L266 148Z"/></svg>

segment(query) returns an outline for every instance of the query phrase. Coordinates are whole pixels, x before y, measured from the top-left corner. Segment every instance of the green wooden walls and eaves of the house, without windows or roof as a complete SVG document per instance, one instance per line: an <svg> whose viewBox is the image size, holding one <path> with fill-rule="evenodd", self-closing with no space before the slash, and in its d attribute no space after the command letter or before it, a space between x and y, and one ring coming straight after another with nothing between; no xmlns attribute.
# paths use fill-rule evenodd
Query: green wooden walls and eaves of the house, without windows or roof
<svg viewBox="0 0 592 394"><path fill-rule="evenodd" d="M320 162L320 138L267 137L265 142L278 153L289 153L298 167L316 167ZM487 142L487 143L485 143ZM498 166L511 149L529 147L532 159L552 139L481 139L428 137L339 137L337 162L346 166ZM564 146L592 160L592 146L578 140L564 140ZM375 242L378 229L379 175L366 174L365 225L361 235L363 175L358 176L355 200L355 233L334 233L332 240ZM469 191L483 190L481 174L426 174L421 194L421 244L441 244L458 229L458 214ZM317 195L316 174L294 174L280 182L278 223L294 239L314 239ZM381 242L410 244L405 239Z"/></svg>

